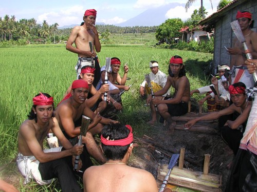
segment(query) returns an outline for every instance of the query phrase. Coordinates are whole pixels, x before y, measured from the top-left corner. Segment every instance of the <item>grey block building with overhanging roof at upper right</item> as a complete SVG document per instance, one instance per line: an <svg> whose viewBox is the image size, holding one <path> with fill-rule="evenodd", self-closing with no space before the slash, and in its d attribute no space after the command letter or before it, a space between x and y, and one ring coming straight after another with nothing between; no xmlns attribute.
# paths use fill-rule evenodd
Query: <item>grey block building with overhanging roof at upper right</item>
<svg viewBox="0 0 257 192"><path fill-rule="evenodd" d="M217 69L217 65L230 65L231 56L227 53L226 47L232 46L232 39L234 33L231 29L230 23L235 20L237 11L249 11L252 13L252 19L254 20L253 31L256 32L257 28L257 1L256 0L234 0L226 7L213 13L209 17L200 21L200 25L208 32L215 28L214 32L214 66L213 69ZM243 63L242 63L243 64Z"/></svg>

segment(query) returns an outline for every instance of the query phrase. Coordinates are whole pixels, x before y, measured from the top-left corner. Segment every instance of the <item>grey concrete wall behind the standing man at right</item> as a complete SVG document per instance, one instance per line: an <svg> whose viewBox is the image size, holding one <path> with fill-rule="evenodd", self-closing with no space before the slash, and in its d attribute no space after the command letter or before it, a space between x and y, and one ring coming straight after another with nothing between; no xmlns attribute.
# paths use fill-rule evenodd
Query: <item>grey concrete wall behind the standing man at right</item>
<svg viewBox="0 0 257 192"><path fill-rule="evenodd" d="M253 31L257 29L257 1L249 0L234 9L227 11L218 22L215 23L215 37L214 37L214 68L217 70L217 65L230 65L231 56L227 54L226 47L232 47L232 39L235 37L230 23L235 20L237 11L249 11L252 13L254 20ZM257 40L257 39L256 39ZM215 71L216 72L216 71Z"/></svg>

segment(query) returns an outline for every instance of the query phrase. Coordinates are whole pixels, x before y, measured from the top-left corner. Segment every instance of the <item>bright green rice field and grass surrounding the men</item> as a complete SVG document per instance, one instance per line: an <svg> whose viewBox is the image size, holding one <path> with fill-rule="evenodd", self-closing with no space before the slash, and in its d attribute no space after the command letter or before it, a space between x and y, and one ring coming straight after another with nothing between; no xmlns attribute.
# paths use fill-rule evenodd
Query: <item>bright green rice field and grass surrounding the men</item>
<svg viewBox="0 0 257 192"><path fill-rule="evenodd" d="M17 133L20 124L27 119L33 96L39 92L49 93L54 97L55 105L59 103L76 78L74 66L77 63L77 55L67 51L65 45L0 48L0 55L1 166L16 157ZM191 90L209 83L203 71L212 60L212 54L138 45L103 45L98 53L100 66L105 65L105 57L120 58L122 66L125 62L128 63L128 77L131 80L126 84L135 83L130 91L122 95L124 109L119 119L122 123L131 124L138 137L152 129L145 126L145 121L150 119L150 110L143 106L145 100L139 97L140 83L144 75L150 72L150 60L157 60L160 70L168 74L169 59L173 55L183 58ZM120 74L123 75L122 67ZM171 91L173 92L173 89Z"/></svg>

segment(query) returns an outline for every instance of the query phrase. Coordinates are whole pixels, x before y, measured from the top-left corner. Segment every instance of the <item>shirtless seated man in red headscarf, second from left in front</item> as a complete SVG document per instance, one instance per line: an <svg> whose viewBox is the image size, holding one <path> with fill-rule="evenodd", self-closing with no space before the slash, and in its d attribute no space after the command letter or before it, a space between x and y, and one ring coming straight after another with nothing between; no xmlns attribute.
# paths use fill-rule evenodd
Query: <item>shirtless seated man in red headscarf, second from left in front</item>
<svg viewBox="0 0 257 192"><path fill-rule="evenodd" d="M89 124L88 132L86 133L86 136L83 137L82 143L86 144L86 148L81 157L83 158L84 155L87 157L86 153L88 151L88 153L98 162L104 163L105 158L92 135L101 133L103 124L116 123L117 121L103 118L99 114L94 114L94 112L88 108L85 102L88 94L88 84L86 81L82 79L75 80L72 83L71 89L71 97L61 101L56 111L54 111L54 114L56 115L64 135L72 144L78 142L82 115L89 117L93 122ZM91 165L90 159L85 158L84 161L86 167Z"/></svg>

